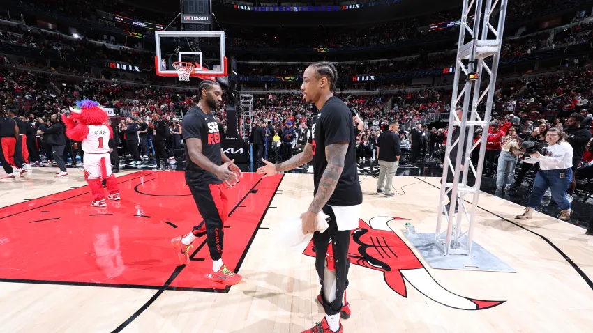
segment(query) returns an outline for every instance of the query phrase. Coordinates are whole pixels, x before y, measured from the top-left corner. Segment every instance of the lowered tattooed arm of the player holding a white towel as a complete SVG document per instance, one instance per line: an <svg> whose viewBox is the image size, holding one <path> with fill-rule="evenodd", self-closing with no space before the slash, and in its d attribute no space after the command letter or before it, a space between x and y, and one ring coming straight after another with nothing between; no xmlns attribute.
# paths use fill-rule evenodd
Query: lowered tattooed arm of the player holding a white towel
<svg viewBox="0 0 593 333"><path fill-rule="evenodd" d="M338 142L325 147L325 158L327 159L327 166L319 181L317 187L317 194L313 198L309 206L309 212L317 214L322 210L323 206L329 201L333 190L338 185L340 175L344 170L344 160L346 159L346 152L348 150L347 142Z"/></svg>

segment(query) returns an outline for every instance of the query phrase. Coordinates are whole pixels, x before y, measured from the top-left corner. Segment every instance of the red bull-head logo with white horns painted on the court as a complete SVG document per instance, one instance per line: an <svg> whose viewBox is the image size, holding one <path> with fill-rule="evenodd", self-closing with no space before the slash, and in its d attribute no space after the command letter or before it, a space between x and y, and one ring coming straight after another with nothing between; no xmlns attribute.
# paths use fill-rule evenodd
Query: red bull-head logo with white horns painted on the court
<svg viewBox="0 0 593 333"><path fill-rule="evenodd" d="M406 283L431 300L462 310L483 310L505 301L476 300L446 290L430 275L412 249L393 231L399 217L373 217L369 224L359 220L359 228L351 234L350 263L383 272L386 284L396 293L407 297ZM315 257L313 241L304 254Z"/></svg>

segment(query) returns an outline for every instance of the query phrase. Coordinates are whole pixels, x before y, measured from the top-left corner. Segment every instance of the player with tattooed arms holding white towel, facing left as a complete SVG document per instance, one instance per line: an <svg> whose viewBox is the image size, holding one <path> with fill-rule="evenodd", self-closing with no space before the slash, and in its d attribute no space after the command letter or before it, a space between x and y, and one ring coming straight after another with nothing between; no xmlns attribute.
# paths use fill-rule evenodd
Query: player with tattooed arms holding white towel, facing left
<svg viewBox="0 0 593 333"><path fill-rule="evenodd" d="M315 196L301 220L303 233L313 233L315 270L322 284L317 300L326 316L303 333L343 333L340 316L350 317L345 293L350 266L348 247L352 229L359 226L362 192L356 170L352 112L333 96L337 79L338 71L329 62L314 63L305 70L303 98L320 110L313 124L313 135L302 153L276 165L264 160L266 165L257 169L264 177L272 176L313 160ZM330 217L329 228L323 233L317 231L320 211Z"/></svg>

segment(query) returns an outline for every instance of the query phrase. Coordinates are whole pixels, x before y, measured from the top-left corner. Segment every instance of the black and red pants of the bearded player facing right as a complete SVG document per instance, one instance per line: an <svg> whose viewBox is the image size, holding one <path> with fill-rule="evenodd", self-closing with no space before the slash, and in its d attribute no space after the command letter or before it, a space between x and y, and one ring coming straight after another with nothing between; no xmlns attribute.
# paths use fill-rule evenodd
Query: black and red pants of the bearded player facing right
<svg viewBox="0 0 593 333"><path fill-rule="evenodd" d="M202 215L202 222L193 227L192 233L196 236L206 234L210 257L218 260L223 256L223 226L229 216L227 188L224 184L192 184L189 187Z"/></svg>

